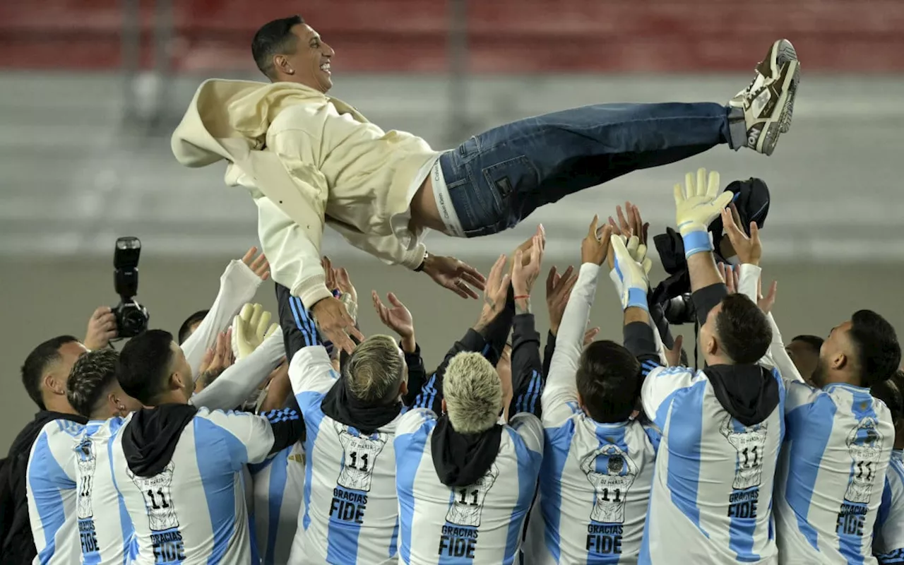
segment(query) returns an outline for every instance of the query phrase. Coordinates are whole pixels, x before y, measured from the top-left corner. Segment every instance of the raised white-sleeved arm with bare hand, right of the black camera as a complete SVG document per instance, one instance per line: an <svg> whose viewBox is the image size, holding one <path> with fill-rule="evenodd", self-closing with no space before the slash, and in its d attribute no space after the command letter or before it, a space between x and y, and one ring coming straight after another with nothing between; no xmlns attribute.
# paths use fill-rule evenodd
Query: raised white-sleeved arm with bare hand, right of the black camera
<svg viewBox="0 0 904 565"><path fill-rule="evenodd" d="M258 292L260 283L269 277L268 260L264 255L255 258L258 248L252 247L239 259L233 259L220 277L220 292L213 300L210 312L201 325L182 344L185 360L192 367L195 379L201 374L204 353L232 323L232 317L250 302Z"/></svg>

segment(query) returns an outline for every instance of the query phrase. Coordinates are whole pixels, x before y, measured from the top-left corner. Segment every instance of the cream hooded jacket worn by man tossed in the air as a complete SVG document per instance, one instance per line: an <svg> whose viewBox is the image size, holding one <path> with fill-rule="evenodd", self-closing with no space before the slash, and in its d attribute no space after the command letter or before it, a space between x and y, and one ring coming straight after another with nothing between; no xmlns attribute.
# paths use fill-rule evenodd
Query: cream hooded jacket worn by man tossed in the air
<svg viewBox="0 0 904 565"><path fill-rule="evenodd" d="M320 265L324 224L386 263L417 268L424 231L410 202L439 152L367 121L342 100L292 82L206 80L173 134L179 163L225 159L226 184L258 205L274 280L311 307L330 297Z"/></svg>

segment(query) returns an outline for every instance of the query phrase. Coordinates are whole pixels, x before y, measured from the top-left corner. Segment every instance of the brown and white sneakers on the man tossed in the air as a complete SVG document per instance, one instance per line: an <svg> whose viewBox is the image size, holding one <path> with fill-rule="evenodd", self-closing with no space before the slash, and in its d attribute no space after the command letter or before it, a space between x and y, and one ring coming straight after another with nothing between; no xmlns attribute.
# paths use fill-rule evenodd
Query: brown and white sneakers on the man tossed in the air
<svg viewBox="0 0 904 565"><path fill-rule="evenodd" d="M765 155L775 151L778 136L791 128L799 81L800 62L794 45L780 39L757 65L749 87L729 101L731 108L744 111L749 148Z"/></svg>

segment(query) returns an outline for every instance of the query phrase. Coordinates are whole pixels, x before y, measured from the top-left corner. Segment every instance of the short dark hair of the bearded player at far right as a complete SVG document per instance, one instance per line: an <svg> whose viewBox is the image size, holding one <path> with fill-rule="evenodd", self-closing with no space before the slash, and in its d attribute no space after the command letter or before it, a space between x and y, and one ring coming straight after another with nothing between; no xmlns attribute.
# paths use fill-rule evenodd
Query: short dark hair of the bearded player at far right
<svg viewBox="0 0 904 565"><path fill-rule="evenodd" d="M862 386L871 388L890 379L901 363L898 335L888 320L872 310L858 310L851 316L848 332L857 349L857 367Z"/></svg>

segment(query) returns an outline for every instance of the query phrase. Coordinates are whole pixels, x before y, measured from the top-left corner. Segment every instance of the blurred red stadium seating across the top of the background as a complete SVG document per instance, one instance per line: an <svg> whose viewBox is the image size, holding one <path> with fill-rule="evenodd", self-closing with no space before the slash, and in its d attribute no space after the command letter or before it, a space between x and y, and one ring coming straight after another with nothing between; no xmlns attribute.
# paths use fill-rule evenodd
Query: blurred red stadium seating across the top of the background
<svg viewBox="0 0 904 565"><path fill-rule="evenodd" d="M252 34L287 9L277 0L172 4L171 63L199 73L252 71ZM116 69L121 5L0 3L0 68ZM338 71L447 70L447 0L312 0L303 8L336 49ZM145 66L153 23L154 0L142 0ZM478 73L748 71L751 53L786 36L807 71L904 71L902 29L899 0L472 0L468 64Z"/></svg>

